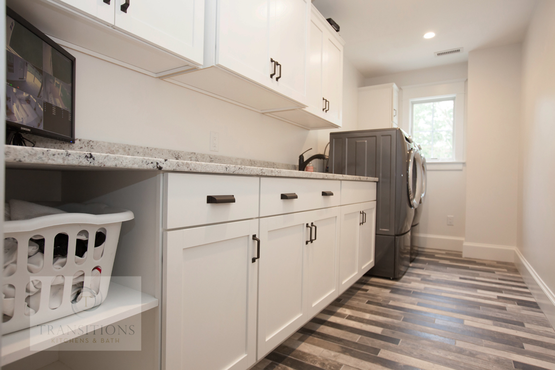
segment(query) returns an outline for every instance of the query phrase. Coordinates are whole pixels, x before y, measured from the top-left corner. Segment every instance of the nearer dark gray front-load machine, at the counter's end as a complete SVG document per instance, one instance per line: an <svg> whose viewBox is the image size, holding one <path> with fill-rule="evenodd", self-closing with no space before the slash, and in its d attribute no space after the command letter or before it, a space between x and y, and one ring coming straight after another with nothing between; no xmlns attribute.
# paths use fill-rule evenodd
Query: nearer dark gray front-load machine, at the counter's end
<svg viewBox="0 0 555 370"><path fill-rule="evenodd" d="M420 202L420 153L399 128L330 133L331 173L377 177L375 265L367 274L400 278ZM420 169L418 169L420 168Z"/></svg>

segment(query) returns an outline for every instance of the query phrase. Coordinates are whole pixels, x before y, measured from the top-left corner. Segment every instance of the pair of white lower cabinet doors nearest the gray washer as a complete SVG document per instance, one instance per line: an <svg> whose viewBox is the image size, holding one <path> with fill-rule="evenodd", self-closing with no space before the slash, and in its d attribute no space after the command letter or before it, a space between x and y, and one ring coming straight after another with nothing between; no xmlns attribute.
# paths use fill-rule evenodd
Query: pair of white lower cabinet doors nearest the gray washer
<svg viewBox="0 0 555 370"><path fill-rule="evenodd" d="M374 267L376 202L341 206L339 293Z"/></svg>

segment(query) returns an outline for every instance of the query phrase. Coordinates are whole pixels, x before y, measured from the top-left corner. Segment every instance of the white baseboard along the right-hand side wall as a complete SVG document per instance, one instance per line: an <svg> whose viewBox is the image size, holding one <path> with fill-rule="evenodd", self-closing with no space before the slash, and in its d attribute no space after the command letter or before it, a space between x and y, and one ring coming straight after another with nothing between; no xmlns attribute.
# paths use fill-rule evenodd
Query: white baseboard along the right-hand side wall
<svg viewBox="0 0 555 370"><path fill-rule="evenodd" d="M542 309L543 313L546 315L547 319L551 323L551 326L555 328L555 294L547 286L532 265L524 258L521 251L514 249L514 264L516 264L518 272L521 273L524 282L532 292L532 296L538 302L539 307Z"/></svg>

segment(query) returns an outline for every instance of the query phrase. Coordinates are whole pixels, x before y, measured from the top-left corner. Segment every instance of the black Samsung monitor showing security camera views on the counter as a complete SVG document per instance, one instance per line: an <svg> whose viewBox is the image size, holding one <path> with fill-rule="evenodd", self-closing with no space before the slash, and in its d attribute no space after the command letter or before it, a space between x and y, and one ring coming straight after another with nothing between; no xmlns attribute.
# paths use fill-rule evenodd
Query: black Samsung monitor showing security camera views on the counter
<svg viewBox="0 0 555 370"><path fill-rule="evenodd" d="M74 142L75 58L6 9L6 126Z"/></svg>

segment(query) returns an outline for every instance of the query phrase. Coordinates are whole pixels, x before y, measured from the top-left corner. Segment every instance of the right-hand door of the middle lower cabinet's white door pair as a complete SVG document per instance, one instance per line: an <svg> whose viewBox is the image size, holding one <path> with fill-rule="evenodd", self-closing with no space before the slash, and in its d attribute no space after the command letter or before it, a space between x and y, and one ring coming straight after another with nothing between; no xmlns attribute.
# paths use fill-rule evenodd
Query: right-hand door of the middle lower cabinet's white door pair
<svg viewBox="0 0 555 370"><path fill-rule="evenodd" d="M313 241L305 248L304 267L307 318L310 318L339 295L336 263L339 253L339 207L307 212L306 219L310 220L309 226L313 229Z"/></svg>

